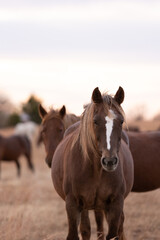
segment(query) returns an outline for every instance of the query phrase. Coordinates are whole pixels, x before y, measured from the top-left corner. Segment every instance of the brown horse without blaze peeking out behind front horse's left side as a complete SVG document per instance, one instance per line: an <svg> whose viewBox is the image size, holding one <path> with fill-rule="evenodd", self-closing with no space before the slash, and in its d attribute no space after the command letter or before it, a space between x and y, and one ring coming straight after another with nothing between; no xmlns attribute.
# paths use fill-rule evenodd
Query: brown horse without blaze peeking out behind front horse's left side
<svg viewBox="0 0 160 240"><path fill-rule="evenodd" d="M40 134L37 143L39 144L43 141L47 154L45 161L47 165L51 167L53 154L62 140L65 130L80 118L75 114L67 114L64 105L59 110L51 109L47 112L40 104L38 111L42 119L42 124L40 126Z"/></svg>

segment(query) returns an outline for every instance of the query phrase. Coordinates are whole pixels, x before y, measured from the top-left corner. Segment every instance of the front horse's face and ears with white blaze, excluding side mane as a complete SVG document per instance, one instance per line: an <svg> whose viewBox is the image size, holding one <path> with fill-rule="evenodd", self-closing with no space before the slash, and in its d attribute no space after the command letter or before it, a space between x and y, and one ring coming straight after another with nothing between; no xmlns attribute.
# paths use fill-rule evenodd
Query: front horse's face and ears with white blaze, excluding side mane
<svg viewBox="0 0 160 240"><path fill-rule="evenodd" d="M119 159L124 114L120 107L124 100L124 90L119 87L114 97L102 96L96 88L92 94L94 107L94 129L98 149L101 152L101 164L104 170L114 171Z"/></svg>

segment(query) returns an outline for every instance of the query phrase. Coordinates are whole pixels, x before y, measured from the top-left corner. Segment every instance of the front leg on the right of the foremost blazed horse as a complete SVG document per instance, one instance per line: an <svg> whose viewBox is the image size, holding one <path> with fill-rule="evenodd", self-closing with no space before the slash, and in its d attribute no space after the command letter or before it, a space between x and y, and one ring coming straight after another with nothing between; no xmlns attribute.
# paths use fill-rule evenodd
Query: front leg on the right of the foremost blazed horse
<svg viewBox="0 0 160 240"><path fill-rule="evenodd" d="M122 198L111 200L107 203L105 216L108 222L108 234L106 240L116 239L124 240L123 238L123 202Z"/></svg>

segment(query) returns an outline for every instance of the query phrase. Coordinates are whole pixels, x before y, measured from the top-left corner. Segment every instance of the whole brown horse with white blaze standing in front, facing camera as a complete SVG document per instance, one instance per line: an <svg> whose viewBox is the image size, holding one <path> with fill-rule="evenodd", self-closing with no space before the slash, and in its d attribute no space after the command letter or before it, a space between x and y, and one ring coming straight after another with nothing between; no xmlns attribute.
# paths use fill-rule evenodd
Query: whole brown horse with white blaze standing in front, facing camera
<svg viewBox="0 0 160 240"><path fill-rule="evenodd" d="M121 139L124 90L102 95L98 88L82 114L79 126L57 146L51 176L55 190L65 200L67 240L78 240L79 217L83 240L90 239L88 210L104 212L106 240L124 240L124 199L133 185L133 158ZM98 233L98 239L103 239Z"/></svg>

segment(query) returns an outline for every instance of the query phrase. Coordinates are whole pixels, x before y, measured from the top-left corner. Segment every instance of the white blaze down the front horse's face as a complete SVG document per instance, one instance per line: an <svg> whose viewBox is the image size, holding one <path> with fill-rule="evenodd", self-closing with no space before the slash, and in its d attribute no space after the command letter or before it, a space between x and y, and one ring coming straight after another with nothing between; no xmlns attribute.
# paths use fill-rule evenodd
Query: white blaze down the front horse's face
<svg viewBox="0 0 160 240"><path fill-rule="evenodd" d="M111 149L111 134L113 130L113 121L116 118L113 110L109 110L109 116L105 117L106 120L106 140L107 140L107 149Z"/></svg>

